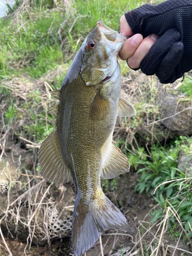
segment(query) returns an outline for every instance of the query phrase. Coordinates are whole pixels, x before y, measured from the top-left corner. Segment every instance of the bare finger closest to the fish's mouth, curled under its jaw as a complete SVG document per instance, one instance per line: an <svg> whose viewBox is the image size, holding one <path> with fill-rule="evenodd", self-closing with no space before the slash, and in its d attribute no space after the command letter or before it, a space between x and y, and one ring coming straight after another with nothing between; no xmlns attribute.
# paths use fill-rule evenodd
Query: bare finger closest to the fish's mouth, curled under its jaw
<svg viewBox="0 0 192 256"><path fill-rule="evenodd" d="M141 34L136 34L132 36L131 38L127 39L124 44L122 49L119 52L119 57L122 60L126 60L129 57L131 57L135 51L137 50L139 44L142 42L143 36Z"/></svg>

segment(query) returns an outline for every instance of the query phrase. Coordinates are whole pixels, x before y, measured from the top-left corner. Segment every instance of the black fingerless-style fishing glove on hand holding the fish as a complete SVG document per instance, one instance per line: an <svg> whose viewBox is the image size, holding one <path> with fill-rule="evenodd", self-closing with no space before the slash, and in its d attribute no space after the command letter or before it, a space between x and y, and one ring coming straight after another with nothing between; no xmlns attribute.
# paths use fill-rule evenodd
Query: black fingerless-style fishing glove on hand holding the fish
<svg viewBox="0 0 192 256"><path fill-rule="evenodd" d="M143 73L172 83L192 69L192 0L146 4L125 13L125 18L134 34L161 36L140 63Z"/></svg>

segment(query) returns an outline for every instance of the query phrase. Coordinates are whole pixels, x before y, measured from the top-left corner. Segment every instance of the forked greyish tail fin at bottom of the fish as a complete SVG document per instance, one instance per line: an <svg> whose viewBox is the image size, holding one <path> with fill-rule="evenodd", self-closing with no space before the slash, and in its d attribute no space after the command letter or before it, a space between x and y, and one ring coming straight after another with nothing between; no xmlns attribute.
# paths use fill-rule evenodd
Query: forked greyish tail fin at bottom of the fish
<svg viewBox="0 0 192 256"><path fill-rule="evenodd" d="M94 203L82 205L76 198L72 228L72 249L75 256L89 250L107 229L133 231L122 212L106 196L103 201L101 206Z"/></svg>

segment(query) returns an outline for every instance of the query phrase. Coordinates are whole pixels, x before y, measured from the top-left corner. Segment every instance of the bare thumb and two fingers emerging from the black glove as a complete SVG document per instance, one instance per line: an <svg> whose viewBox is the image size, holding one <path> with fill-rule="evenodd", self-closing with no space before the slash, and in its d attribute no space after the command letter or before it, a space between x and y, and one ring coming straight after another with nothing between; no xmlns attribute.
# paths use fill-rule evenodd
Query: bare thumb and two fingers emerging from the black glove
<svg viewBox="0 0 192 256"><path fill-rule="evenodd" d="M151 34L143 39L141 34L134 35L124 15L120 18L120 34L131 37L124 42L119 57L122 60L127 59L127 64L131 69L138 69L142 59L147 55L159 36Z"/></svg>

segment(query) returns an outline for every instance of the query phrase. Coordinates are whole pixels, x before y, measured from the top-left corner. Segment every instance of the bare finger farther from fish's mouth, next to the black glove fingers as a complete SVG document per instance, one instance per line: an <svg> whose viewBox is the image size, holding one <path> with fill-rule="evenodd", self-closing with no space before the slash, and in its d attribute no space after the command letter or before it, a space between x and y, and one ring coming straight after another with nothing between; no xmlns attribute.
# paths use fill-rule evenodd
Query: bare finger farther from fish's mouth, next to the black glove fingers
<svg viewBox="0 0 192 256"><path fill-rule="evenodd" d="M158 38L159 36L152 34L142 40L135 53L127 59L127 64L131 69L138 69L140 67L142 59L147 55Z"/></svg>

